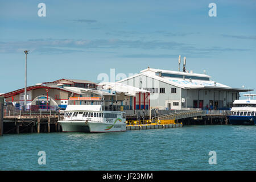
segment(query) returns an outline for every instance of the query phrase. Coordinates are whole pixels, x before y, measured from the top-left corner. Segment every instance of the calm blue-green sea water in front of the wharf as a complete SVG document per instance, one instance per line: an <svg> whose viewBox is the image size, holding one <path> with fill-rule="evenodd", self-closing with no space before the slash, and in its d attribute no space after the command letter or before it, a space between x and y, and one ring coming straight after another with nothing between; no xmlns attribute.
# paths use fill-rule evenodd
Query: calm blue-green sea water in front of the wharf
<svg viewBox="0 0 256 182"><path fill-rule="evenodd" d="M0 137L1 170L255 170L255 126ZM46 165L38 152L46 152ZM217 164L210 165L209 151Z"/></svg>

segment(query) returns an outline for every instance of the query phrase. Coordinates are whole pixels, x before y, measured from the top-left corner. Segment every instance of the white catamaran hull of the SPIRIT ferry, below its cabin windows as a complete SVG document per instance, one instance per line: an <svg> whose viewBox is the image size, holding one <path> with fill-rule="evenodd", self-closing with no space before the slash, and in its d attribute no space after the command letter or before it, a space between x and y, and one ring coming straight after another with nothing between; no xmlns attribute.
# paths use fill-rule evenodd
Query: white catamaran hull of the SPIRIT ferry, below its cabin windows
<svg viewBox="0 0 256 182"><path fill-rule="evenodd" d="M63 132L106 133L126 131L126 123L102 123L86 121L59 121Z"/></svg>

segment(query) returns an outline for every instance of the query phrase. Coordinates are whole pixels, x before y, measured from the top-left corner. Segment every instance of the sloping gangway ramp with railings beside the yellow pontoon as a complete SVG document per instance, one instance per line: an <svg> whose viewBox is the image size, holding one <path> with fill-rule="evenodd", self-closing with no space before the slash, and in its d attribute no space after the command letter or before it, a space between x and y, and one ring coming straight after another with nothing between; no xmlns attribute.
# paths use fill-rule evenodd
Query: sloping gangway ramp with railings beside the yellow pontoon
<svg viewBox="0 0 256 182"><path fill-rule="evenodd" d="M159 120L165 120L165 119L184 119L184 118L192 118L192 117L199 117L205 115L202 110L193 110L193 111L180 111L176 113L171 114L164 114L159 115L152 118L152 122L159 121Z"/></svg>

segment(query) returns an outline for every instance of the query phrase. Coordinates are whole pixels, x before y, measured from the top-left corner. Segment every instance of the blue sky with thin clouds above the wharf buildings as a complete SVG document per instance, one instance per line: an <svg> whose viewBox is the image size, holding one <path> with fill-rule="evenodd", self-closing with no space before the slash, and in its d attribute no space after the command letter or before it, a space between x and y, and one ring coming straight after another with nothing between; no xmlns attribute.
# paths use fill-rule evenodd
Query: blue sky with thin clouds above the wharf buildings
<svg viewBox="0 0 256 182"><path fill-rule="evenodd" d="M38 4L46 4L46 17ZM210 17L209 3L217 17ZM151 68L207 71L234 88L256 89L255 1L5 1L0 6L0 93L58 80L98 82L100 73ZM256 92L254 92L256 93Z"/></svg>

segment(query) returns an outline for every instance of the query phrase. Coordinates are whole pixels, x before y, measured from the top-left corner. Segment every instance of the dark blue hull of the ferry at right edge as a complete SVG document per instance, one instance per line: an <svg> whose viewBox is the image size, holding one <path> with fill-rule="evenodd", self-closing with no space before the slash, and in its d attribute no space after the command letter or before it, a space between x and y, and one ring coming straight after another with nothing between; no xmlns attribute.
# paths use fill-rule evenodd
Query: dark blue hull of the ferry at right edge
<svg viewBox="0 0 256 182"><path fill-rule="evenodd" d="M256 125L256 117L255 116L230 115L229 123L230 123L230 125Z"/></svg>

